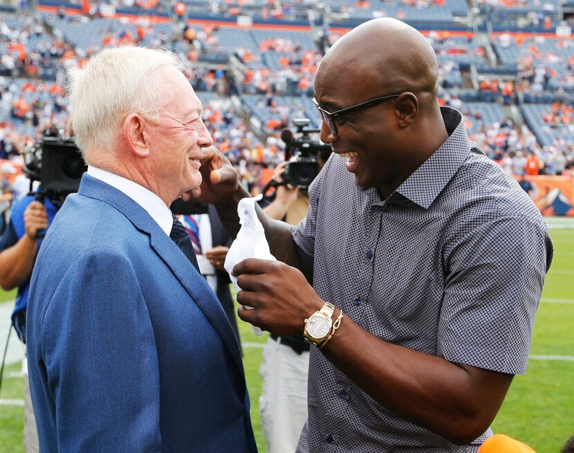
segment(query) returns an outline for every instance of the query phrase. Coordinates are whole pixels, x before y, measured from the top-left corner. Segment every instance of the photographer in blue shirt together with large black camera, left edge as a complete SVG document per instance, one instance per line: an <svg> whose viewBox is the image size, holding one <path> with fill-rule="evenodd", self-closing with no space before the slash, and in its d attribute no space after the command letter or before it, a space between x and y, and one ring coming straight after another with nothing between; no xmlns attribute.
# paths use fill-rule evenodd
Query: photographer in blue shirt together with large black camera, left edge
<svg viewBox="0 0 574 453"><path fill-rule="evenodd" d="M53 131L45 133L41 142L24 154L26 164L20 176L26 181L22 189L28 187L28 194L12 206L10 223L0 241L0 286L4 290L18 288L12 326L24 344L30 277L42 238L66 196L77 192L84 170L82 157L69 140L73 136L71 124L68 122L65 133L62 131L59 136L57 133L55 135ZM38 452L38 435L28 386L27 358L23 360L22 370L25 386L24 446L28 453Z"/></svg>

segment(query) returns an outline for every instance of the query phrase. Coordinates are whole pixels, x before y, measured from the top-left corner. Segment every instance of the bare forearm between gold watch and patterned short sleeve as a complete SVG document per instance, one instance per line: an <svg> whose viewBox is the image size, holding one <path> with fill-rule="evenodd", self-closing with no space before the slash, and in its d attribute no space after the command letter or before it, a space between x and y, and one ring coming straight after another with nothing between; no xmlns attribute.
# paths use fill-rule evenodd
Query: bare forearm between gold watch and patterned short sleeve
<svg viewBox="0 0 574 453"><path fill-rule="evenodd" d="M455 443L488 428L512 380L389 344L348 317L322 352L378 403Z"/></svg>

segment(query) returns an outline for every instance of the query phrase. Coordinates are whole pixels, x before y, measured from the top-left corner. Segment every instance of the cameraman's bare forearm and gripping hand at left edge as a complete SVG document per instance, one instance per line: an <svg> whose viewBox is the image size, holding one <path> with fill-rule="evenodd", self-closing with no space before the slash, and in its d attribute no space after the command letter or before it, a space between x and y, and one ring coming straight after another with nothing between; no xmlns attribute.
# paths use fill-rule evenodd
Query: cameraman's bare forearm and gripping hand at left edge
<svg viewBox="0 0 574 453"><path fill-rule="evenodd" d="M32 274L38 250L36 232L48 228L44 205L37 201L30 203L24 212L24 225L26 234L0 252L0 286L3 290L17 288Z"/></svg>

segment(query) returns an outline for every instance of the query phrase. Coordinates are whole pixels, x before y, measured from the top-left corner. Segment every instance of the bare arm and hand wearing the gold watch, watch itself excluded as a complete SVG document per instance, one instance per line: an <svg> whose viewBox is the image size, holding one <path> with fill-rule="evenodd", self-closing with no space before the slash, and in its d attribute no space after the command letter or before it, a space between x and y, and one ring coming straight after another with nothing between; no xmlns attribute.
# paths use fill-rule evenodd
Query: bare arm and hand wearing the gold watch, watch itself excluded
<svg viewBox="0 0 574 453"><path fill-rule="evenodd" d="M301 335L303 320L323 305L300 272L284 264L246 260L235 270L244 288L237 301L255 307L240 309L239 317L276 335ZM390 344L349 317L321 352L385 408L454 443L469 443L488 428L512 381L512 374Z"/></svg>

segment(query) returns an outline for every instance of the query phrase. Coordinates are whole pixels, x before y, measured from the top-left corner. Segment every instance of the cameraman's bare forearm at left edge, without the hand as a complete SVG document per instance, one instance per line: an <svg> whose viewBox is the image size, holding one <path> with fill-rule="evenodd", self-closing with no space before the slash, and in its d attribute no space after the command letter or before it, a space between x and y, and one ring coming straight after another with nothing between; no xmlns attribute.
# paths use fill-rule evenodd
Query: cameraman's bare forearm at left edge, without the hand
<svg viewBox="0 0 574 453"><path fill-rule="evenodd" d="M11 290L20 286L32 273L38 243L26 235L14 246L0 253L0 286Z"/></svg>

